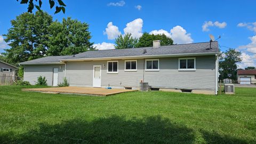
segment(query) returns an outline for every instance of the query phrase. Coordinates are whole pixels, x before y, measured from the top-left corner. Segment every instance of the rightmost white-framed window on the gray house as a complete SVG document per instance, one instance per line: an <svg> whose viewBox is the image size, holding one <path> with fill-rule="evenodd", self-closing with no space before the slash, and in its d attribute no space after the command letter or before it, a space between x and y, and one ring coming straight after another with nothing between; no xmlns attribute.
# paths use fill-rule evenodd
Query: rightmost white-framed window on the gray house
<svg viewBox="0 0 256 144"><path fill-rule="evenodd" d="M196 58L179 58L179 70L196 70Z"/></svg>

